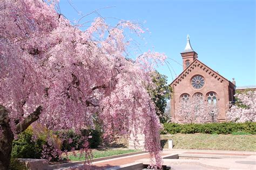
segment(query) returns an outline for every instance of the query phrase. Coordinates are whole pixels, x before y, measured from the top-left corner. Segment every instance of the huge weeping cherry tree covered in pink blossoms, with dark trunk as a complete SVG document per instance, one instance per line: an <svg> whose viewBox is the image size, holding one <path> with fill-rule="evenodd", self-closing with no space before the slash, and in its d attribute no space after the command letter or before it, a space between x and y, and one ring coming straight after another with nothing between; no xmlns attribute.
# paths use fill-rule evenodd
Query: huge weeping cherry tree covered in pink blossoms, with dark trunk
<svg viewBox="0 0 256 170"><path fill-rule="evenodd" d="M106 139L129 137L132 127L143 132L152 164L161 166L161 126L145 87L166 57L149 51L127 59L124 30L140 35L138 25L113 27L99 17L81 31L39 0L4 0L0 23L0 169L8 169L12 141L32 123L78 131L93 128L96 113Z"/></svg>

